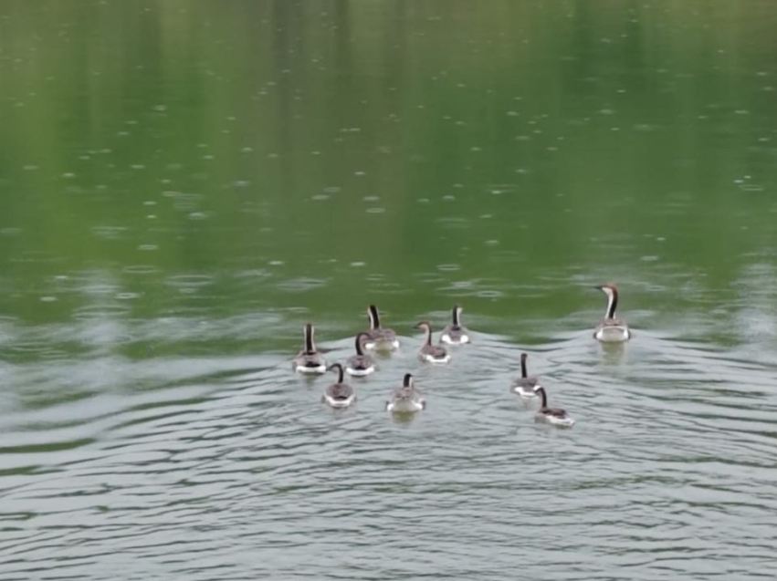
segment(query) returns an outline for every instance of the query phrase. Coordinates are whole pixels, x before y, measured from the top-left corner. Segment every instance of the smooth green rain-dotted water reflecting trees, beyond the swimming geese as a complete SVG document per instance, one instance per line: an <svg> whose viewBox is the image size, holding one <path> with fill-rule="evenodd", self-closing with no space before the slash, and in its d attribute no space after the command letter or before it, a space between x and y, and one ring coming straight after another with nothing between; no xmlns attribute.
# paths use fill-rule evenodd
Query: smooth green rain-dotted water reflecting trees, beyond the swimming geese
<svg viewBox="0 0 777 581"><path fill-rule="evenodd" d="M606 279L648 327L736 305L775 266L775 15L5 2L0 312L278 311L290 341L370 301L588 320Z"/></svg>

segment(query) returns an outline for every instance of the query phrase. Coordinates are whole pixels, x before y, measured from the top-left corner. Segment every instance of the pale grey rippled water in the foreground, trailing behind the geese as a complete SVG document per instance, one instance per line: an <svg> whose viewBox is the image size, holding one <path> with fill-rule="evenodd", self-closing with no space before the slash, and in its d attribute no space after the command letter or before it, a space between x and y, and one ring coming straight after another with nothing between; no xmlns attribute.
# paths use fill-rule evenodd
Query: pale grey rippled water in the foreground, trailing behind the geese
<svg viewBox="0 0 777 581"><path fill-rule="evenodd" d="M22 399L5 422L4 575L99 579L110 562L126 578L297 579L329 563L337 578L496 579L520 559L546 578L656 579L769 563L774 367L649 332L617 349L588 330L547 338L524 350L571 431L532 421L509 392L521 348L484 333L439 368L404 337L342 412L320 403L332 377L294 375L289 354L18 364L13 381L68 377L72 396ZM352 340L321 347L342 360ZM394 422L383 406L405 370L428 407Z"/></svg>

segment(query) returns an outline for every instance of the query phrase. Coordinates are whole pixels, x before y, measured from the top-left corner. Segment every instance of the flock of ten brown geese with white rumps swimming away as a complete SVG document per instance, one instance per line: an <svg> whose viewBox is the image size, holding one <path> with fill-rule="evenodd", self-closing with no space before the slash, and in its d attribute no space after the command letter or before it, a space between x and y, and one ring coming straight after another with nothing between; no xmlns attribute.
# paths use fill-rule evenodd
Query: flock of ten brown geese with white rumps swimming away
<svg viewBox="0 0 777 581"><path fill-rule="evenodd" d="M607 296L607 309L604 318L593 331L593 337L604 343L620 343L631 338L631 331L625 321L615 318L615 308L618 306L618 289L614 284L597 286ZM461 324L461 306L453 307L453 321L443 329L440 335L440 343L446 345L466 345L471 342L467 327ZM327 371L337 372L337 383L332 383L324 390L322 401L332 408L347 408L356 400L356 392L351 385L345 383L345 373L354 377L370 375L376 369L375 359L367 353L368 350L393 351L399 348L399 338L392 329L381 327L381 319L378 309L370 305L367 309L370 318L370 329L356 336L356 354L341 363L327 365L326 359L316 349L313 335L315 329L310 323L305 326L305 347L299 351L299 355L292 363L295 371L306 374L323 374ZM446 364L450 361L450 352L443 345L432 344L432 326L427 321L421 321L415 328L422 329L425 333L423 347L418 351L418 358L433 364ZM572 427L574 420L560 408L548 407L548 393L541 386L537 378L529 376L526 368L526 353L520 354L520 378L512 382L511 390L521 399L527 401L541 398L540 409L534 415L538 422L552 424L559 427ZM421 396L413 384L413 375L406 373L402 381L402 387L395 389L391 398L386 402L386 410L393 413L415 413L424 410L425 399Z"/></svg>

